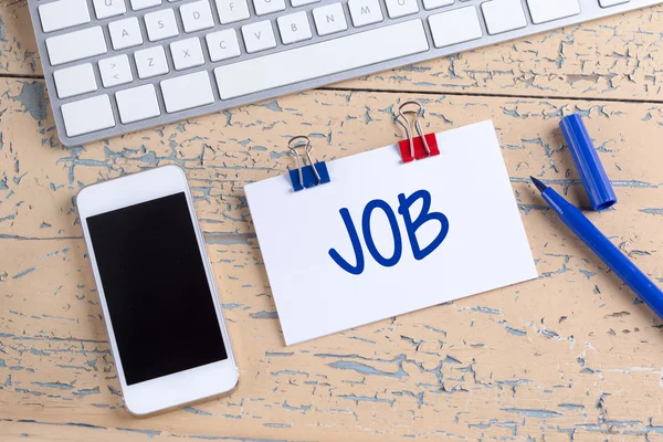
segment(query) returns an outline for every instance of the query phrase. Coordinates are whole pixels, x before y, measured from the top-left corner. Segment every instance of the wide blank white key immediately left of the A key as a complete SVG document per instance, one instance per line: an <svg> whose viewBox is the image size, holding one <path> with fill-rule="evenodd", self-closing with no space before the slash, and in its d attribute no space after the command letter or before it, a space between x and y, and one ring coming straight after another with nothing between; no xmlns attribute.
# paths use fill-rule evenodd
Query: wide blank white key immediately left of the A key
<svg viewBox="0 0 663 442"><path fill-rule="evenodd" d="M46 39L46 52L53 66L105 54L107 51L102 27L87 28Z"/></svg>

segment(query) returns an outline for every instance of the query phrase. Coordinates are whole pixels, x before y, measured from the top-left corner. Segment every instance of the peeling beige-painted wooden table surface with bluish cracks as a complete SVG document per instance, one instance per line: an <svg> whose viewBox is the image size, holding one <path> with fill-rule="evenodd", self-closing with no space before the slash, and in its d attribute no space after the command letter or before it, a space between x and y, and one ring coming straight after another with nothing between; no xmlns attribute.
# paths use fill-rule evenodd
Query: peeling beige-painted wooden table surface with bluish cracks
<svg viewBox="0 0 663 442"><path fill-rule="evenodd" d="M585 115L619 198L588 215L663 283L661 23L646 9L65 148L27 3L0 0L0 440L663 440L662 322L527 183L588 206L557 128ZM394 143L407 98L427 130L494 120L540 277L285 347L243 186L284 173L294 135L327 160ZM137 420L74 196L166 164L193 187L241 381Z"/></svg>

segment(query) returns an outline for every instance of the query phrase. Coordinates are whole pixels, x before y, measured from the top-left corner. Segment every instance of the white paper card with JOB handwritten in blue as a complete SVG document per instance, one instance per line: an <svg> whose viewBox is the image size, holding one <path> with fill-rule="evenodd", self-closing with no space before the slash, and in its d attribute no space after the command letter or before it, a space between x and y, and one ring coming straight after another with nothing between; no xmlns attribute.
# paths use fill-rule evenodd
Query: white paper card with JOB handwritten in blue
<svg viewBox="0 0 663 442"><path fill-rule="evenodd" d="M492 122L436 137L410 164L394 145L298 192L245 187L286 345L538 276Z"/></svg>

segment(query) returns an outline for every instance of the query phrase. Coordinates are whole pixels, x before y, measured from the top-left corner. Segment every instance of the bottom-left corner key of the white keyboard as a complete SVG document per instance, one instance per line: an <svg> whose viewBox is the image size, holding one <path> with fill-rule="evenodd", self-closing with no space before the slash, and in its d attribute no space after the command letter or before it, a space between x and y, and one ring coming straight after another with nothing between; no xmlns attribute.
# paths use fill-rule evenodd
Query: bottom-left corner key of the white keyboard
<svg viewBox="0 0 663 442"><path fill-rule="evenodd" d="M115 126L108 95L63 104L62 119L69 137L90 134Z"/></svg>

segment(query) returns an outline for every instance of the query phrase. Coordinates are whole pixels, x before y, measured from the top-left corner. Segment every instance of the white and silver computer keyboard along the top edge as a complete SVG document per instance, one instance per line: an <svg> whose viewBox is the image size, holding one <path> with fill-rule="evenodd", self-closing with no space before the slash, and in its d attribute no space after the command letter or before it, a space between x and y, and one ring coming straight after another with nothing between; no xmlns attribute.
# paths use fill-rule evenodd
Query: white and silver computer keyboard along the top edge
<svg viewBox="0 0 663 442"><path fill-rule="evenodd" d="M29 0L66 146L663 0Z"/></svg>

